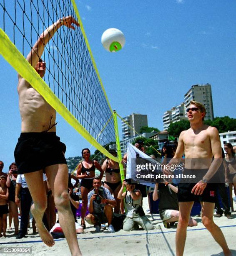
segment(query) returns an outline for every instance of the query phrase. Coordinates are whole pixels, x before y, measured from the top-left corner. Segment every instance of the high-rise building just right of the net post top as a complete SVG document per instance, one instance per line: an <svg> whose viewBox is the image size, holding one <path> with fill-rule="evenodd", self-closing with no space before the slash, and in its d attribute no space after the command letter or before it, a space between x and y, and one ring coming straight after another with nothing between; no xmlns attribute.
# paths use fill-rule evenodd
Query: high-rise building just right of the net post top
<svg viewBox="0 0 236 256"><path fill-rule="evenodd" d="M122 121L122 139L128 139L136 136L137 133L140 133L140 128L143 126L148 126L148 116L132 113L131 115L126 116L123 118ZM131 128L129 125L133 128Z"/></svg>

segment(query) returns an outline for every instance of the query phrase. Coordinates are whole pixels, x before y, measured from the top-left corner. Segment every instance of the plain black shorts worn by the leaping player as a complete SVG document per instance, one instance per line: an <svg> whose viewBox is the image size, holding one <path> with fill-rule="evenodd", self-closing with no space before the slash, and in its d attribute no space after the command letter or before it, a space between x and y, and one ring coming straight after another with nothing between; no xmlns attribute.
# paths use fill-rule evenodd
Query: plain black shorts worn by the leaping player
<svg viewBox="0 0 236 256"><path fill-rule="evenodd" d="M54 164L66 164L64 143L55 132L21 133L15 147L18 174L36 172Z"/></svg>

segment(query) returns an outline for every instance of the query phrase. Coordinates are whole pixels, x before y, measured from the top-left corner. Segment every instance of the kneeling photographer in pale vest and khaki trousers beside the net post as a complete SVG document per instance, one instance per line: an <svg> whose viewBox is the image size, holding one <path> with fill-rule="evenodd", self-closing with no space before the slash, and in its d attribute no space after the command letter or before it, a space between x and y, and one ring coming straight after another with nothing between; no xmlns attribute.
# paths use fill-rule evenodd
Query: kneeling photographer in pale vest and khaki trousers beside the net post
<svg viewBox="0 0 236 256"><path fill-rule="evenodd" d="M124 187L126 187L126 192L123 192ZM138 230L138 225L144 230L154 229L141 207L142 194L138 189L135 189L135 184L131 183L131 179L123 181L118 198L121 200L125 198L126 218L123 222L123 230Z"/></svg>

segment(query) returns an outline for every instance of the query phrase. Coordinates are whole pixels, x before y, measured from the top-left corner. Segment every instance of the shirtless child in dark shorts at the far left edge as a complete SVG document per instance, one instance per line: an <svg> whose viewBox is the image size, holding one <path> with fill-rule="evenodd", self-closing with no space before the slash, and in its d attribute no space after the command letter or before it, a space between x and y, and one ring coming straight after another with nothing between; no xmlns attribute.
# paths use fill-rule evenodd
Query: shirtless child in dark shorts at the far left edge
<svg viewBox="0 0 236 256"><path fill-rule="evenodd" d="M5 175L0 176L0 237L6 237L7 214L8 214L8 187L6 186L7 178Z"/></svg>

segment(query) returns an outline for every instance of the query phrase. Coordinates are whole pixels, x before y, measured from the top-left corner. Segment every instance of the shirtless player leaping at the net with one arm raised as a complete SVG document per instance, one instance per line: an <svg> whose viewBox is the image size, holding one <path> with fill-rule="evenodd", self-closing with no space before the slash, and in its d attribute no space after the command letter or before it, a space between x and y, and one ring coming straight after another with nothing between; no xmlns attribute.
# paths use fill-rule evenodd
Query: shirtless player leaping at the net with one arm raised
<svg viewBox="0 0 236 256"><path fill-rule="evenodd" d="M40 77L45 74L46 64L40 59L44 47L61 26L75 29L79 23L72 17L63 17L49 26L38 38L27 56ZM18 94L21 115L21 134L15 148L15 162L18 173L24 174L34 204L31 212L43 242L54 245L52 235L43 225L43 213L47 207L47 197L43 183L43 172L47 174L58 209L60 225L63 229L72 255L81 255L75 232L75 221L70 209L67 192L68 167L63 154L63 143L56 136L56 111L44 98L18 74Z"/></svg>

